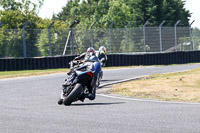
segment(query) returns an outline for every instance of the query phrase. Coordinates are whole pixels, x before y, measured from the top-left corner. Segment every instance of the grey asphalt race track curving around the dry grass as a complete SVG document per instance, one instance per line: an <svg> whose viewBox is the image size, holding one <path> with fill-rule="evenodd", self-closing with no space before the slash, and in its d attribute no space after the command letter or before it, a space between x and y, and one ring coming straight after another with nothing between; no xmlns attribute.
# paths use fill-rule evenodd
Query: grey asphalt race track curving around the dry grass
<svg viewBox="0 0 200 133"><path fill-rule="evenodd" d="M105 70L102 84L200 64ZM66 74L0 80L0 133L200 133L200 104L98 94L58 105Z"/></svg>

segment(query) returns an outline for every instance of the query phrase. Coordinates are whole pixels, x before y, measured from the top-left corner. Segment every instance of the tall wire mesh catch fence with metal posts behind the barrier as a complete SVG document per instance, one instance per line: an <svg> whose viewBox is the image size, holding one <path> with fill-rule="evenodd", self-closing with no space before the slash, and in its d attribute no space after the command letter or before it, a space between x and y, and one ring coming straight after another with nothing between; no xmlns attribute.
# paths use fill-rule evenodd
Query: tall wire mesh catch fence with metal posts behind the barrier
<svg viewBox="0 0 200 133"><path fill-rule="evenodd" d="M191 27L0 29L0 58L78 55L88 47L108 54L198 50Z"/></svg>

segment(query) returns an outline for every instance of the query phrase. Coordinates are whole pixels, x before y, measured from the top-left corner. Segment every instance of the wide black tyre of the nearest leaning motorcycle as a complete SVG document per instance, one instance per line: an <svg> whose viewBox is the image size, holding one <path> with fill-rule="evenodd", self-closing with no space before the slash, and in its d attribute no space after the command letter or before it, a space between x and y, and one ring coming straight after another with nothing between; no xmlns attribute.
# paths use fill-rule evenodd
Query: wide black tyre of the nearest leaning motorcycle
<svg viewBox="0 0 200 133"><path fill-rule="evenodd" d="M83 89L83 86L77 83L74 89L71 91L71 93L66 98L64 98L63 100L64 105L66 106L71 105L71 103L74 100L76 100L78 95L82 92L82 89Z"/></svg>

